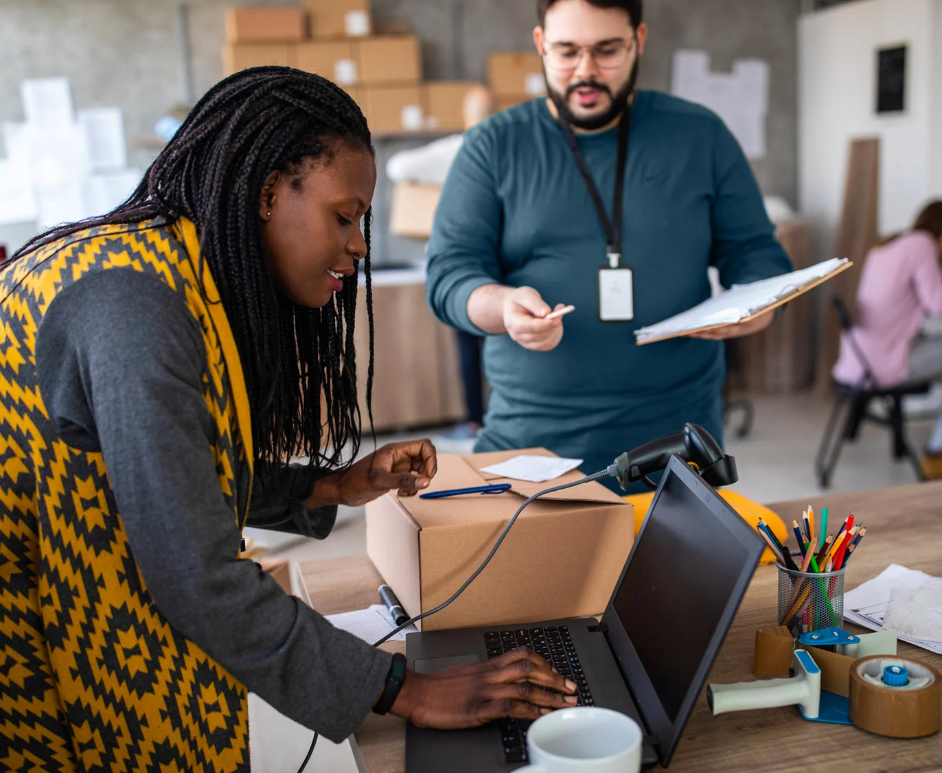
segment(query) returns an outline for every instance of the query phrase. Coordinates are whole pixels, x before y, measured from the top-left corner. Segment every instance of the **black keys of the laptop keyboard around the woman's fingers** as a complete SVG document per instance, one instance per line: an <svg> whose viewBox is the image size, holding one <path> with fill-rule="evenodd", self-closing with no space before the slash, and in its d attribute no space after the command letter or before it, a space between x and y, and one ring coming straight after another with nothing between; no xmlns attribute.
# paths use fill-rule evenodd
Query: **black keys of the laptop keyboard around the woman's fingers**
<svg viewBox="0 0 942 773"><path fill-rule="evenodd" d="M512 631L488 631L484 634L488 658L499 657L518 647L527 647L536 652L577 686L577 701L580 706L593 706L595 702L589 691L585 674L579 664L576 646L565 625L547 625L545 628L517 628ZM528 719L501 719L498 721L500 738L504 744L504 757L509 763L526 763L527 730L532 724Z"/></svg>

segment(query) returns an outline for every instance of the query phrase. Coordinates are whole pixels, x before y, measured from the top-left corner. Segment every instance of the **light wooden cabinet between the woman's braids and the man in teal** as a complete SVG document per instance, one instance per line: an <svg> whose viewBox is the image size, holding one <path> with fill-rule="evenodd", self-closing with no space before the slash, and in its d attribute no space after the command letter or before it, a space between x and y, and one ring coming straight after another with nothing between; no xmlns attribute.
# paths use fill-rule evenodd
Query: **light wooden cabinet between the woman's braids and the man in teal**
<svg viewBox="0 0 942 773"><path fill-rule="evenodd" d="M464 400L455 331L431 313L422 282L387 283L380 273L374 273L373 286L376 431L461 421ZM357 300L355 341L366 428L369 339L363 287Z"/></svg>

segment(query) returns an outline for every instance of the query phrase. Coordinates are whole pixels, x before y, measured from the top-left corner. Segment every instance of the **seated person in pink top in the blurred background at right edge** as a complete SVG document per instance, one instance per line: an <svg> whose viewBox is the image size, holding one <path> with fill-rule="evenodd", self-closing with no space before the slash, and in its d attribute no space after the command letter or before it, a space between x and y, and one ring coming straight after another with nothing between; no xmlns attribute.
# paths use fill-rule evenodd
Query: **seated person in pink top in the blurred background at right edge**
<svg viewBox="0 0 942 773"><path fill-rule="evenodd" d="M912 231L870 250L857 288L853 337L876 380L890 387L905 381L942 379L942 338L920 336L927 316L942 315L942 201L916 218ZM831 375L860 384L864 365L843 336ZM942 415L922 460L923 475L942 477Z"/></svg>

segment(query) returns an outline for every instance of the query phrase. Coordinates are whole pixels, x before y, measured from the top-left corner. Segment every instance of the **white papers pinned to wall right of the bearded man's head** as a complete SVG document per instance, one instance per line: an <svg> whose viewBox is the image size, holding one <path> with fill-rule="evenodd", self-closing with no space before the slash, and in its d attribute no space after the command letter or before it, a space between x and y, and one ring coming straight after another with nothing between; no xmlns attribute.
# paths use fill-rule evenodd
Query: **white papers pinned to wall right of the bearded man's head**
<svg viewBox="0 0 942 773"><path fill-rule="evenodd" d="M671 93L715 112L748 158L768 153L769 63L739 59L732 72L710 72L705 51L674 52Z"/></svg>

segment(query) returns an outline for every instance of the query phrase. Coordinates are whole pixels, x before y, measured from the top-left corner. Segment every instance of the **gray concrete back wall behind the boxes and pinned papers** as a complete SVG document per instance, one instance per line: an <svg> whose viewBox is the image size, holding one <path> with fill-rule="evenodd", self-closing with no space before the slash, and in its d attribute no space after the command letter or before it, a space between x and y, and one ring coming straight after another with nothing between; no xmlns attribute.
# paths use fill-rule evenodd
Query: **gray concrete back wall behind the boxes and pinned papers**
<svg viewBox="0 0 942 773"><path fill-rule="evenodd" d="M668 89L677 47L709 52L728 70L739 57L771 63L769 155L754 164L767 194L794 203L796 169L796 36L804 0L648 0L651 27L640 84ZM280 6L285 0L252 0ZM76 105L118 105L124 111L129 163L146 167L155 151L142 144L154 122L183 98L176 0L0 0L0 122L22 120L24 77L68 75ZM221 74L224 0L190 0L193 83L197 94ZM483 79L486 54L529 49L535 0L373 0L378 22L405 21L422 40L428 78ZM390 153L422 140L379 142L380 168ZM381 174L376 196L378 261L412 260L422 247L386 236L389 197ZM28 229L0 229L0 241L22 241Z"/></svg>

